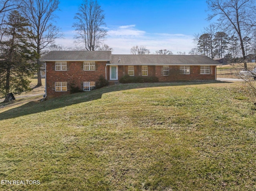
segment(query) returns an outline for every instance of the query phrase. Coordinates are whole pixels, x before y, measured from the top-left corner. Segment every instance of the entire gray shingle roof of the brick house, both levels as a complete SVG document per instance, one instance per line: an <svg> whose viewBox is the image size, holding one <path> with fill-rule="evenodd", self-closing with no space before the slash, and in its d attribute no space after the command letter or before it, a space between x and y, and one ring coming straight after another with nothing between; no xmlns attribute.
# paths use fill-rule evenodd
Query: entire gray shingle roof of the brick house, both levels
<svg viewBox="0 0 256 191"><path fill-rule="evenodd" d="M120 61L119 61L120 59ZM41 61L110 61L108 65L219 65L204 55L111 55L111 51L50 51Z"/></svg>

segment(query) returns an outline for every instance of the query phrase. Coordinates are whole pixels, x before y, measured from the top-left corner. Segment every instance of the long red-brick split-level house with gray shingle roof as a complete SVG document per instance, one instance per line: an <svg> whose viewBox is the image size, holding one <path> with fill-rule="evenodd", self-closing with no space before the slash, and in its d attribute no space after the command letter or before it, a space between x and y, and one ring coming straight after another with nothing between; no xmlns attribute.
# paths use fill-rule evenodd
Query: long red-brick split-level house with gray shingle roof
<svg viewBox="0 0 256 191"><path fill-rule="evenodd" d="M50 51L46 62L46 95L95 89L100 76L109 83L124 75L157 77L160 82L216 80L220 63L204 55L112 55L111 51Z"/></svg>

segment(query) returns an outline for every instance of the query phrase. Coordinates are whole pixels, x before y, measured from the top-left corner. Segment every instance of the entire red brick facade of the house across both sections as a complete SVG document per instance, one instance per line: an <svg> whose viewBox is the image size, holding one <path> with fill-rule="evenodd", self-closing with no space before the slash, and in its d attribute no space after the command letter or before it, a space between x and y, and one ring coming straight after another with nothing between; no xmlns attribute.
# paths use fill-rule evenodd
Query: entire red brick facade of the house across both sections
<svg viewBox="0 0 256 191"><path fill-rule="evenodd" d="M46 61L46 93L47 97L57 97L70 93L70 87L78 87L83 90L84 82L97 82L102 75L110 81L110 63L107 61L95 61L95 70L84 71L83 61L67 61L67 70L55 71L55 61ZM169 74L163 75L162 65L148 65L148 76L157 77L160 82L215 80L215 65L210 66L210 74L200 74L200 65L191 65L190 74L180 74L179 65L169 65ZM128 65L118 65L118 80L128 75ZM134 65L134 76L142 75L142 65ZM115 80L117 81L117 80ZM67 83L64 91L56 91L56 82Z"/></svg>

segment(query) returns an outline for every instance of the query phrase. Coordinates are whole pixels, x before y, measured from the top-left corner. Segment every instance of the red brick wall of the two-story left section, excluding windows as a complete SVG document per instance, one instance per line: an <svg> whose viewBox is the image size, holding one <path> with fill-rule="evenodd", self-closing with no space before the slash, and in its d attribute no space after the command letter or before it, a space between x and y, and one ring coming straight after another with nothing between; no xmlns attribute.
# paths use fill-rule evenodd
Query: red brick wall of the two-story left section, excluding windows
<svg viewBox="0 0 256 191"><path fill-rule="evenodd" d="M96 61L95 71L84 71L84 62L67 62L67 71L55 71L55 62L46 62L46 93L47 97L56 97L70 93L70 86L82 89L85 81L97 82L100 75L105 77L106 61ZM55 82L68 82L68 91L56 92Z"/></svg>

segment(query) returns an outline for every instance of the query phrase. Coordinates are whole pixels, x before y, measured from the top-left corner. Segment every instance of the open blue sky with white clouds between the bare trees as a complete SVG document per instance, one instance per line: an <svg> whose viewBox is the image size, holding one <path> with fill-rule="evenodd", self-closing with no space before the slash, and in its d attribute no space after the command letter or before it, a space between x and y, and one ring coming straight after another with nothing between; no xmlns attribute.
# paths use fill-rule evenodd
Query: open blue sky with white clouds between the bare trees
<svg viewBox="0 0 256 191"><path fill-rule="evenodd" d="M64 38L56 44L74 47L74 16L82 0L60 0L56 25ZM134 45L144 45L151 53L159 49L188 52L195 47L195 33L210 23L206 0L98 0L104 10L108 30L106 43L114 54L130 54Z"/></svg>

